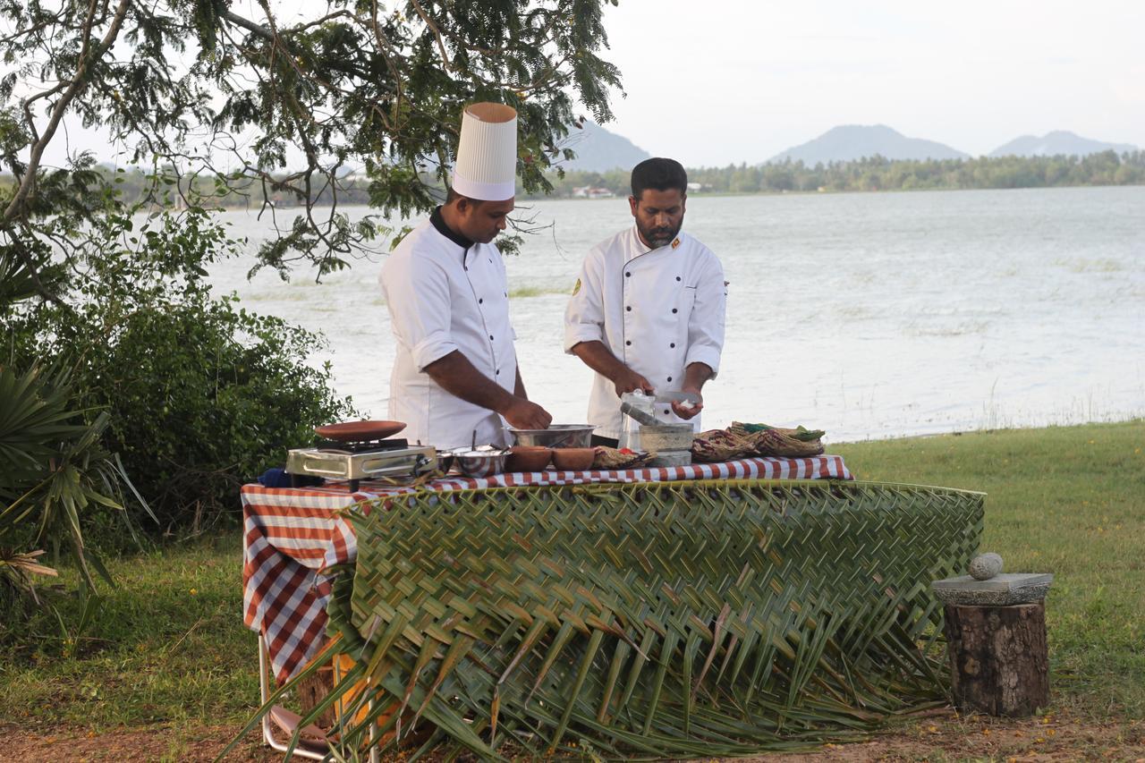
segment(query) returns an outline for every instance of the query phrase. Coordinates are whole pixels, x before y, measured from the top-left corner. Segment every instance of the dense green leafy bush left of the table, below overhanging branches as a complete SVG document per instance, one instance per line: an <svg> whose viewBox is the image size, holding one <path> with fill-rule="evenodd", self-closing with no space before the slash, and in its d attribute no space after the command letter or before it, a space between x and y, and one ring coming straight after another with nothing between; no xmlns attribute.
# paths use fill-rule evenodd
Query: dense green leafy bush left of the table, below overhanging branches
<svg viewBox="0 0 1145 763"><path fill-rule="evenodd" d="M165 527L231 512L238 486L281 463L287 445L348 414L321 340L232 297L215 299L204 265L236 244L205 212L97 221L73 258L63 304L33 302L8 322L17 364L74 359L73 400L101 411Z"/></svg>

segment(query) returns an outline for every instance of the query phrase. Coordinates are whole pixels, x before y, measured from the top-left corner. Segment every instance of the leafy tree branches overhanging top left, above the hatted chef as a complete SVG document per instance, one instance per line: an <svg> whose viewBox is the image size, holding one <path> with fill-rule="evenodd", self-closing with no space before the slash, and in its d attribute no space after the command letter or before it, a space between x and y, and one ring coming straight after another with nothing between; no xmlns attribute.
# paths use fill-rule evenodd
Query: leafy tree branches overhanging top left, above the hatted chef
<svg viewBox="0 0 1145 763"><path fill-rule="evenodd" d="M544 170L568 156L559 143L579 119L576 102L598 121L611 117L618 73L597 55L608 2L332 0L321 15L287 19L269 3L246 17L219 0L6 0L0 164L15 187L0 239L27 267L47 268L18 251L47 235L40 215L85 221L106 202L92 157L41 166L66 115L109 129L132 162L168 166L191 205L207 190L199 178L213 196L263 205L293 196L302 213L276 218L281 237L260 251L284 275L299 259L319 273L345 267L378 234L377 219L350 223L338 212L348 183L365 184L382 213L431 209L428 183L447 175L468 102L518 110L518 172L527 189L545 189Z"/></svg>

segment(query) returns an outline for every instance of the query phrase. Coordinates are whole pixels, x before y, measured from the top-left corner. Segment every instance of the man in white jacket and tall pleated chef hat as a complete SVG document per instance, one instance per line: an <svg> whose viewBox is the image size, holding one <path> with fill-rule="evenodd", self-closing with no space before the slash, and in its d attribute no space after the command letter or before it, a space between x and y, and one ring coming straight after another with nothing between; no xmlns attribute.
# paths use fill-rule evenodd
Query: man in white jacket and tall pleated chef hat
<svg viewBox="0 0 1145 763"><path fill-rule="evenodd" d="M387 259L381 293L397 339L389 417L437 448L505 445L505 423L545 428L516 363L505 263L491 242L513 211L516 111L476 103L461 116L445 203Z"/></svg>

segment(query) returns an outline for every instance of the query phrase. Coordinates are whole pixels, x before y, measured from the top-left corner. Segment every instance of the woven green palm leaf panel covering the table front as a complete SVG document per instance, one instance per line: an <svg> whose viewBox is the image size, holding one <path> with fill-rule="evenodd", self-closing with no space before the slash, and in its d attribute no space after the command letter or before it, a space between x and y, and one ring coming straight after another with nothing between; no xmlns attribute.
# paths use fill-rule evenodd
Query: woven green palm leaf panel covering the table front
<svg viewBox="0 0 1145 763"><path fill-rule="evenodd" d="M727 480L421 493L354 516L331 616L360 706L398 741L428 724L483 757L793 748L945 700L929 584L977 551L982 501Z"/></svg>

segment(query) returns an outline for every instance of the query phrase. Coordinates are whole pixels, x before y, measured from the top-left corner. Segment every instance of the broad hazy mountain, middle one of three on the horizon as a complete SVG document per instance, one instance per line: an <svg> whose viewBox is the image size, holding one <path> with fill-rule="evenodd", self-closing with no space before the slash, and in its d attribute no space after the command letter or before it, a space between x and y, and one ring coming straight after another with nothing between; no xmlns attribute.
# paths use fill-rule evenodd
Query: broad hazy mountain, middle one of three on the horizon
<svg viewBox="0 0 1145 763"><path fill-rule="evenodd" d="M814 165L820 162L853 162L876 154L887 159L964 159L968 156L942 143L907 137L886 125L842 125L813 141L789 148L768 162L802 159L804 164Z"/></svg>

